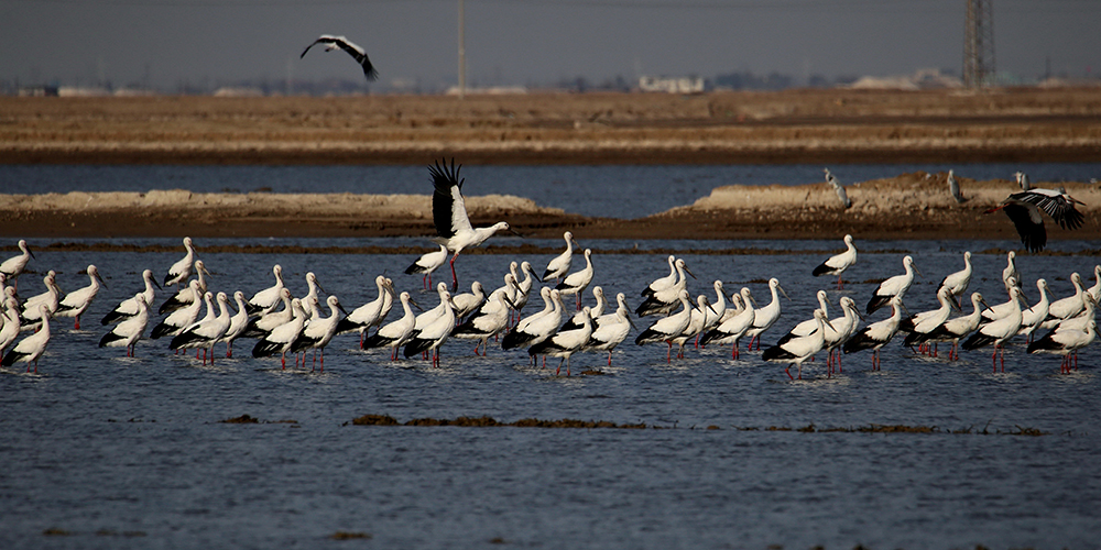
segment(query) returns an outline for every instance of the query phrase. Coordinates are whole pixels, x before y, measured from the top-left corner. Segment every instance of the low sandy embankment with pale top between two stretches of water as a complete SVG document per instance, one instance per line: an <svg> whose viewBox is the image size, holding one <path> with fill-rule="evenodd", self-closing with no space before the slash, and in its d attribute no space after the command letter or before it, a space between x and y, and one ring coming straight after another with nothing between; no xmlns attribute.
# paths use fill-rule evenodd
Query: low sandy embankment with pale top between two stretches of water
<svg viewBox="0 0 1101 550"><path fill-rule="evenodd" d="M566 229L588 239L1016 239L1009 219L986 215L1015 188L960 178L968 201L948 195L945 174L904 174L849 185L840 207L826 184L724 186L693 205L634 220L586 218L513 196L471 196L475 224L506 220L531 238ZM1054 184L1036 183L1054 187ZM1048 220L1051 240L1101 239L1101 189L1064 184L1086 202L1086 224ZM69 193L0 197L0 234L19 237L406 237L432 235L427 195Z"/></svg>

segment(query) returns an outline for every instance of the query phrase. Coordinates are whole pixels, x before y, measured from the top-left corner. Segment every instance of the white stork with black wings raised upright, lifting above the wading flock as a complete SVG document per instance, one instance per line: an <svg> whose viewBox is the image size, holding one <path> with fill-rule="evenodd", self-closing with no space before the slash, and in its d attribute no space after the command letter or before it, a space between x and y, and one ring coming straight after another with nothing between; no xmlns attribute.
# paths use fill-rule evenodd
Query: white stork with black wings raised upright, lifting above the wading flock
<svg viewBox="0 0 1101 550"><path fill-rule="evenodd" d="M447 250L455 253L450 262L453 290L459 288L459 277L455 274L455 260L459 257L459 253L464 249L478 246L501 230L510 231L516 235L520 234L509 228L508 222L503 221L499 221L488 228L473 228L470 226L470 218L467 216L467 206L462 200L462 183L466 179L459 179L459 169L461 168L462 165L459 165L458 168L455 167L454 158L451 160L450 167L447 166L446 161L443 165L437 162L435 166L428 166L434 186L432 193L432 222L436 226L437 235L433 241L447 246Z"/></svg>

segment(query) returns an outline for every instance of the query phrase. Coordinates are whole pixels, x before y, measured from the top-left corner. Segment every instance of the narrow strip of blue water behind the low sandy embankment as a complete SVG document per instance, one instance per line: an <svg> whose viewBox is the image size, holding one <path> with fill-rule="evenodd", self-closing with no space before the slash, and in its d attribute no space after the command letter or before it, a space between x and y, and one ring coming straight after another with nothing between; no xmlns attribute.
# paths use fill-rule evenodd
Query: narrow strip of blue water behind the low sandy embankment
<svg viewBox="0 0 1101 550"><path fill-rule="evenodd" d="M961 177L1013 179L1026 172L1033 183L1089 182L1101 163L1045 164L854 164L832 166L844 185L925 170L955 169ZM468 195L515 195L537 205L582 216L642 218L691 205L724 185L824 183L819 165L611 165L466 166ZM0 165L0 189L10 194L188 189L195 193L432 193L424 166L161 166ZM945 190L947 193L947 189ZM964 187L963 193L967 193Z"/></svg>

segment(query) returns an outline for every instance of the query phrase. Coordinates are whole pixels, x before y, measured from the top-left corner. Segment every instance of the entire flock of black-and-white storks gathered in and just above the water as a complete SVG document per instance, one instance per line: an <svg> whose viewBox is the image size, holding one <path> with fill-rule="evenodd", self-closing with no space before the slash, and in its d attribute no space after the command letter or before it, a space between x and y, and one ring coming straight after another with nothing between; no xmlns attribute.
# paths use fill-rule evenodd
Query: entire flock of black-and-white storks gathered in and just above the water
<svg viewBox="0 0 1101 550"><path fill-rule="evenodd" d="M504 275L504 285L487 293L480 282L473 282L470 293L453 294L458 289L458 278L455 273L455 261L467 248L478 246L498 231L512 231L505 222L499 222L487 228L473 228L467 217L461 194L464 179L459 177L459 167L455 162L448 165L435 163L428 167L433 178L433 221L437 237L434 240L439 250L421 256L405 271L406 274L423 274L424 289L428 290L433 272L448 263L450 257L453 284L450 289L446 283L436 285L438 305L419 314L413 307L419 308L408 292L396 293L393 280L382 275L375 278L377 298L348 312L336 296L324 300L319 292L324 289L318 284L314 273L306 274L308 292L301 298L292 296L284 285L282 268L275 265L272 273L275 284L255 293L251 298L238 290L230 298L226 293L214 294L207 290L205 275L209 275L201 260L196 260L196 250L190 238L184 238L186 255L173 264L163 277L163 285L181 288L168 297L157 309L161 319L151 330L150 338L171 337L170 348L176 350L195 349L196 356L201 352L203 362L214 362L214 346L226 344L227 356L232 355L233 342L240 338L255 339L252 355L255 358L280 355L282 366L286 367L286 355L295 355L295 366L301 355L305 366L305 352L320 352L320 367L324 370L324 349L334 337L344 333L358 332L360 346L363 350L390 348L391 360L399 358L403 349L405 358L422 354L432 360L434 366L439 365L439 349L449 338L476 340L475 353L486 354L488 342L501 337L504 350L526 348L530 361L536 361L542 355L544 366L546 356L559 358L558 370L566 367L570 375L569 360L577 352L607 351L608 364L611 365L612 351L622 343L631 329L634 328L631 310L623 293L615 296L614 310L610 309L608 298L600 286L592 286L596 298L592 307L581 307L582 294L593 280L592 251L585 249L585 267L570 272L574 248L577 241L566 231L565 251L550 260L542 276L537 275L530 262L512 262L510 272ZM827 170L827 177L831 175ZM1073 205L1075 200L1065 191L1049 189L1032 189L1027 177L1018 175L1022 191L1011 195L1000 207L1021 230L1022 241L1027 248L1043 246L1046 237L1036 237L1035 226L1043 232L1040 210L1047 212L1060 226L1077 228L1082 223L1082 215ZM835 180L836 182L836 180ZM833 184L843 191L840 184ZM952 177L949 174L949 186ZM993 211L993 210L992 210ZM1027 218L1027 222L1018 217ZM1027 231L1022 229L1026 227ZM836 275L837 287L843 288L842 274L857 261L857 249L851 235L844 237L846 250L833 255L814 268L813 275ZM46 292L20 300L15 292L17 278L33 257L25 241L19 242L21 254L0 263L0 295L3 296L0 308L0 354L2 364L11 366L17 362L25 362L30 371L32 364L37 372L37 360L50 342L50 320L58 317L74 317L79 329L80 315L84 314L96 297L102 284L95 265L89 265L87 274L89 285L78 290L64 294L57 287L56 274L50 271L43 282ZM579 245L578 245L579 248ZM1047 282L1043 278L1036 282L1039 299L1032 306L1026 302L1025 293L1021 287L1022 277L1017 272L1015 253L1010 252L1007 264L1002 274L1009 300L990 306L979 293L970 295L972 310L963 314L962 300L972 278L971 253L963 254L963 268L947 275L937 289L939 307L929 311L905 315L903 298L918 273L911 256L902 260L904 273L883 280L872 293L864 315L872 315L884 306L890 306L891 316L886 319L868 323L861 328L863 315L855 301L849 296L839 299L841 316L829 318L829 299L826 290L819 290L817 298L819 307L813 317L793 327L777 342L764 349L761 358L765 361L787 365L785 373L792 378L802 378L802 365L817 353L828 354L828 376L835 369L840 371L841 354L872 350L872 367L880 367L880 350L890 343L896 334L904 334L903 344L915 349L917 353L936 355L938 342L951 342L949 360L959 358L959 349L977 350L993 345L992 362L1004 371L1004 345L1013 338L1022 336L1027 339L1028 353L1045 352L1062 355L1061 371L1069 372L1077 363L1077 351L1089 345L1097 337L1094 310L1101 299L1101 265L1094 267L1097 283L1086 288L1078 273L1070 276L1075 294L1058 300L1051 300L1048 295ZM688 277L695 275L688 268L684 258L668 257L669 274L653 280L642 290L643 301L634 310L639 318L648 316L657 320L642 330L635 338L635 343L642 345L652 342L665 342L668 345L667 361L673 359L673 346L677 345L677 356L683 358L685 345L695 341L697 346L708 344L730 344L732 356L739 355L739 342L749 338L749 349L756 342L761 348L761 334L772 328L781 316L780 295L787 296L780 280L768 282L771 300L759 307L748 287L729 296L726 295L721 280L713 283L716 298L708 296L690 298L687 289ZM195 278L192 276L195 275ZM132 356L135 343L144 338L144 333L153 317L152 307L157 287L160 286L151 270L142 274L144 288L132 298L118 304L102 319L103 326L113 324L102 337L100 346L124 346L127 355ZM538 294L544 305L539 311L523 317L522 308L533 294L536 280L555 282L539 288ZM8 285L11 286L8 286ZM430 293L429 293L430 294ZM576 314L567 314L564 299L575 296ZM236 301L236 312L231 311L230 299ZM321 305L327 306L324 311ZM396 320L385 323L393 309L400 304L402 315ZM205 316L200 317L204 311ZM960 315L952 317L953 311ZM327 314L327 315L326 315ZM370 333L371 329L375 329ZM15 340L21 331L34 330L31 336L18 343ZM1040 334L1037 332L1040 331ZM962 341L962 343L960 343ZM14 345L12 345L14 343ZM10 350L9 350L10 348ZM793 376L791 367L798 369Z"/></svg>

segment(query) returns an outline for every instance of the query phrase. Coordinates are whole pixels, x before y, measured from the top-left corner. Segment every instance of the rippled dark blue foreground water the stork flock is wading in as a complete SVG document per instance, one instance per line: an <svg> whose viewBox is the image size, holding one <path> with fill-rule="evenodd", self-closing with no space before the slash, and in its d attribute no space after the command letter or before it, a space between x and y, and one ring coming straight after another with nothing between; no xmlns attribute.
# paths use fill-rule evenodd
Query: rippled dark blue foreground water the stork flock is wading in
<svg viewBox="0 0 1101 550"><path fill-rule="evenodd" d="M32 241L32 248L44 244ZM699 277L690 284L694 295L711 294L710 282L719 278L728 292L749 286L763 305L762 282L781 279L791 300L782 298L784 314L766 332L766 345L809 317L818 288L833 287L832 278L810 271L840 249L818 241L771 244L821 252L684 256ZM846 274L846 290L830 296L835 304L851 296L862 307L871 282L901 273L900 251L907 251L924 274L907 306L931 309L937 283L962 266L964 248L1001 244L858 240L862 252ZM633 343L653 320L645 318L635 319L637 329L613 354L612 367L603 354L579 354L569 377L554 375L554 360L552 369L532 367L525 353L492 343L489 356L475 358L470 342L455 340L445 344L440 369L419 360L391 363L385 350L358 351L355 336L334 341L324 374L252 359L248 342L235 346L233 359L203 366L193 354L174 355L164 340L143 340L135 359L97 348L106 332L98 319L139 289L141 270L162 273L182 253L37 250L31 267L40 273L21 277L21 294L42 292L41 272L48 268L59 273L63 289L84 286L79 272L88 263L109 286L84 330L56 321L39 374L0 370L2 548L320 547L335 543L326 537L338 531L372 537L344 544L379 548L476 548L494 539L547 548L1094 548L1101 540L1097 345L1082 350L1079 371L1060 375L1059 358L1027 355L1021 345L1006 352L1003 374L991 372L989 350L948 362L944 353L920 358L895 342L884 349L880 372L869 370L870 354L862 352L847 355L843 374L827 378L820 356L793 382L756 351L743 350L733 361L729 348L689 349L686 359L667 363L664 345ZM374 297L368 282L385 272L399 290L435 305L434 295L418 292L419 277L401 275L412 256L200 256L216 290L251 295L272 283L271 265L280 263L296 295L305 292L305 272L314 271L353 308ZM513 260L539 271L549 256L464 256L460 282L466 287L478 278L492 288ZM974 257L972 289L991 304L1004 300L1004 262L1000 254ZM1088 255L1017 258L1025 278L1046 277L1055 297L1070 294L1073 271L1092 284L1098 262ZM598 252L593 263L595 284L611 296L625 293L632 306L639 289L668 271L657 254ZM1035 301L1035 286L1026 290ZM586 300L591 305L591 295ZM535 309L532 304L526 312ZM586 369L604 375L578 375ZM294 424L219 422L242 414ZM364 414L399 421L576 418L666 429L350 425ZM819 431L767 429L809 425ZM939 431L820 431L870 425ZM704 429L710 426L719 429ZM1022 429L1046 435L1007 435ZM69 535L46 536L46 529Z"/></svg>

